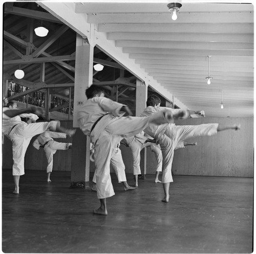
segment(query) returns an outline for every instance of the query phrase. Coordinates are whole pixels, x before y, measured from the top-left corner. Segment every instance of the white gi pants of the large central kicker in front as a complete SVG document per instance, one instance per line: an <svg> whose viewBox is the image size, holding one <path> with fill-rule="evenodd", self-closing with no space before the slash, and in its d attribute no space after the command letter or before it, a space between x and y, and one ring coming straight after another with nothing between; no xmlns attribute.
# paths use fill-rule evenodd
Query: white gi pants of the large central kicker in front
<svg viewBox="0 0 256 254"><path fill-rule="evenodd" d="M104 129L100 128L104 124L104 118L109 121ZM153 114L150 117L103 117L95 126L91 133L91 141L94 144L95 174L97 197L99 199L108 198L115 195L111 177L110 163L115 155L118 143L125 136L134 136L145 129L152 122L167 123L162 112ZM95 139L95 134L97 138Z"/></svg>

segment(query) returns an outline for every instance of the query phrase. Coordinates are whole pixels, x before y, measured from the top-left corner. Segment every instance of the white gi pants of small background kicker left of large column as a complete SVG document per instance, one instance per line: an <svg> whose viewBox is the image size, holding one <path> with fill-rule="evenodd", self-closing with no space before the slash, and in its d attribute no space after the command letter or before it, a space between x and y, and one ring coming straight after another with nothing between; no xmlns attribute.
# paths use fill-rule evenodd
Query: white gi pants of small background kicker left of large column
<svg viewBox="0 0 256 254"><path fill-rule="evenodd" d="M53 167L53 154L56 153L57 150L67 150L71 143L60 143L54 140L50 140L44 147L46 158L47 158L47 173L52 172Z"/></svg>

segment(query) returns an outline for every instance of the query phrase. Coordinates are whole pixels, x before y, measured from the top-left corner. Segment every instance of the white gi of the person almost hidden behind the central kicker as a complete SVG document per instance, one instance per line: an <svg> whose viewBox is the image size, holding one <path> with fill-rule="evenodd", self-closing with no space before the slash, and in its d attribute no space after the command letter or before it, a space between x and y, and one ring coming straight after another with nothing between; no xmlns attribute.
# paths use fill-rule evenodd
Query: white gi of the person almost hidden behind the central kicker
<svg viewBox="0 0 256 254"><path fill-rule="evenodd" d="M126 175L125 175L125 166L123 163L122 153L119 147L116 148L116 152L113 155L113 157L110 160L110 163L115 170L115 173L117 175L118 182L126 181ZM93 175L93 182L96 183L96 174L94 172Z"/></svg>

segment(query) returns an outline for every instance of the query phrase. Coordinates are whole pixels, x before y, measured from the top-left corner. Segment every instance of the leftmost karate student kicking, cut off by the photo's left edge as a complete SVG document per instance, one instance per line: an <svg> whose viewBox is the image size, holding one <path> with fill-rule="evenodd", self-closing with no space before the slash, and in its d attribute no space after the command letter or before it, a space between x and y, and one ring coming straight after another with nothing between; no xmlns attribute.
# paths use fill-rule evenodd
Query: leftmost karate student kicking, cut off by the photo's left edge
<svg viewBox="0 0 256 254"><path fill-rule="evenodd" d="M27 124L19 116L23 113L34 113L37 116L43 117L45 116L45 110L35 106L17 109L15 101L10 101L7 106L3 107L3 133L12 141L14 194L19 194L19 178L25 174L24 158L31 138L47 129L65 132L70 135L75 133L73 129L61 127L59 121Z"/></svg>

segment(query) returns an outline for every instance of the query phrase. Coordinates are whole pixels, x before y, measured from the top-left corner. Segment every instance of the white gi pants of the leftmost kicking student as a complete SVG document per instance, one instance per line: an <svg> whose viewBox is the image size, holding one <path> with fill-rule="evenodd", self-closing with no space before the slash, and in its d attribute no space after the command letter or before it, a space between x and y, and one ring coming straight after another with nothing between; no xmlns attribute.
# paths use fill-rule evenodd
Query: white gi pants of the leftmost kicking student
<svg viewBox="0 0 256 254"><path fill-rule="evenodd" d="M24 175L24 158L31 138L45 132L47 129L56 130L58 121L27 124L22 122L16 125L8 137L12 141L13 166L12 175Z"/></svg>

